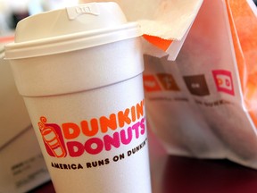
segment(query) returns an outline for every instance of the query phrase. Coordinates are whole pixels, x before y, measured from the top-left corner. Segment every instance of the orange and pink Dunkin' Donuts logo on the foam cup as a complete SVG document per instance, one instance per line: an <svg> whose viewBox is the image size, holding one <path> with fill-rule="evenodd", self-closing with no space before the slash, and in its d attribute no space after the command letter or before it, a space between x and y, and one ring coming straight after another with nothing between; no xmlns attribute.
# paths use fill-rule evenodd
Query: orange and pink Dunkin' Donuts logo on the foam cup
<svg viewBox="0 0 257 193"><path fill-rule="evenodd" d="M50 156L78 157L83 154L97 155L122 145L129 145L133 138L145 134L145 103L130 106L118 113L101 116L79 123L48 123L40 117L39 130ZM110 133L112 134L105 134ZM99 133L105 134L97 137Z"/></svg>

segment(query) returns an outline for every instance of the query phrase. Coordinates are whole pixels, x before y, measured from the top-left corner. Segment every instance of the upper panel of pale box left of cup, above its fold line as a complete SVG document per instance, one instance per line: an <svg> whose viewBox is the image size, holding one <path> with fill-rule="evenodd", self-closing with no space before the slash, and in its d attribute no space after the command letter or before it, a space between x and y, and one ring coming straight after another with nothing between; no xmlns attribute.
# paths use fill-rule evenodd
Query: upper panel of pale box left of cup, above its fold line
<svg viewBox="0 0 257 193"><path fill-rule="evenodd" d="M0 54L0 149L31 124L15 86L10 63L3 57L4 54Z"/></svg>

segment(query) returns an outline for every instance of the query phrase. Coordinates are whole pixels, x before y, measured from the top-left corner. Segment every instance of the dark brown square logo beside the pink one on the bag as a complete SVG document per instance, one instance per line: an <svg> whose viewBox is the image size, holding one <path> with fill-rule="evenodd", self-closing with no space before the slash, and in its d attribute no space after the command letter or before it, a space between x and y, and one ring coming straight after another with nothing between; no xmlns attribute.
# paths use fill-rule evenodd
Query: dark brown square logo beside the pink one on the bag
<svg viewBox="0 0 257 193"><path fill-rule="evenodd" d="M208 96L210 91L204 75L184 76L189 92L195 96Z"/></svg>

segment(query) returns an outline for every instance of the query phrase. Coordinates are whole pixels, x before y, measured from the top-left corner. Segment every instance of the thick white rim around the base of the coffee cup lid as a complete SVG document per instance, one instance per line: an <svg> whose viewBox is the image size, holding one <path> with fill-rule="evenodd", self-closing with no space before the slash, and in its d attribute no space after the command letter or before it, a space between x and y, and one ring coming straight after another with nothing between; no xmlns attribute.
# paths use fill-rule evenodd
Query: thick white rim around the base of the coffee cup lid
<svg viewBox="0 0 257 193"><path fill-rule="evenodd" d="M142 36L142 32L137 22L130 22L117 28L95 29L89 32L78 32L55 38L10 43L5 46L4 58L21 59L56 55L140 36Z"/></svg>

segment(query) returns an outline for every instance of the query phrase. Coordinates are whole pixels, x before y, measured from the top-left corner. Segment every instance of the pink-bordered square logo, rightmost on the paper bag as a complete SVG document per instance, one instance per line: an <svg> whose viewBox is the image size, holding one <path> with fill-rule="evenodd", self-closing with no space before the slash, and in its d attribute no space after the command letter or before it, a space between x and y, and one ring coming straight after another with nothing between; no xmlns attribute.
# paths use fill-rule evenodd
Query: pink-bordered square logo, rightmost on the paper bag
<svg viewBox="0 0 257 193"><path fill-rule="evenodd" d="M212 71L212 75L213 75L217 90L219 92L224 92L232 96L235 95L232 74L230 71L224 71L224 70Z"/></svg>

